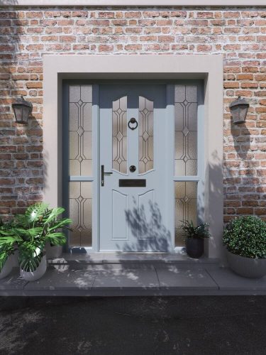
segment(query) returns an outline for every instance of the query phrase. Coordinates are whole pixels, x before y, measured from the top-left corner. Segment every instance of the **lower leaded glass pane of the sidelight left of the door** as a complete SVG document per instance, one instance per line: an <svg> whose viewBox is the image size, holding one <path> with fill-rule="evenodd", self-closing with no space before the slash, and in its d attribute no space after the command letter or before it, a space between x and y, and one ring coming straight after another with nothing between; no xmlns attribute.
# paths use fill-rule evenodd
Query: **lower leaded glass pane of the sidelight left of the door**
<svg viewBox="0 0 266 355"><path fill-rule="evenodd" d="M92 182L69 182L70 247L92 246Z"/></svg>

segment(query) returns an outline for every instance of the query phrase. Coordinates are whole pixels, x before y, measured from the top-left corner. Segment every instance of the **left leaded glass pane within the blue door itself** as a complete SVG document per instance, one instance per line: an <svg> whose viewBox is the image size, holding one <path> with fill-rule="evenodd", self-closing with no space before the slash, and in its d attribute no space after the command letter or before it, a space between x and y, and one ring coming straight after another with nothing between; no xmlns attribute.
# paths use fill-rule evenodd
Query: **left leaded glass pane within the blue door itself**
<svg viewBox="0 0 266 355"><path fill-rule="evenodd" d="M113 170L126 174L127 160L127 97L113 101Z"/></svg>

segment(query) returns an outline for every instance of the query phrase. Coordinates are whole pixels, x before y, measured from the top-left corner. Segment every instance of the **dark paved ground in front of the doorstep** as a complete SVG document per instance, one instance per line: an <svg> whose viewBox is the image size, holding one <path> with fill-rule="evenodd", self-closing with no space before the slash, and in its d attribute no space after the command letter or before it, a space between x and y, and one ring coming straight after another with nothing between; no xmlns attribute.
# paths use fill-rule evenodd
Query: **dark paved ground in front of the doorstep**
<svg viewBox="0 0 266 355"><path fill-rule="evenodd" d="M0 297L0 354L265 355L265 301Z"/></svg>

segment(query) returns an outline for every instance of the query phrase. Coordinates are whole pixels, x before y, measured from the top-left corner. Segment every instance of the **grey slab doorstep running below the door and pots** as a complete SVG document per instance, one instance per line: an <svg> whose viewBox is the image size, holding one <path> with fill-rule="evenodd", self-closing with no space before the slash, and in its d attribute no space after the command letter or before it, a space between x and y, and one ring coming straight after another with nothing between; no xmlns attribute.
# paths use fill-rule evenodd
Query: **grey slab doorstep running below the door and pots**
<svg viewBox="0 0 266 355"><path fill-rule="evenodd" d="M266 295L266 277L242 278L206 258L67 254L48 261L43 278L33 282L23 280L13 268L0 280L0 295Z"/></svg>

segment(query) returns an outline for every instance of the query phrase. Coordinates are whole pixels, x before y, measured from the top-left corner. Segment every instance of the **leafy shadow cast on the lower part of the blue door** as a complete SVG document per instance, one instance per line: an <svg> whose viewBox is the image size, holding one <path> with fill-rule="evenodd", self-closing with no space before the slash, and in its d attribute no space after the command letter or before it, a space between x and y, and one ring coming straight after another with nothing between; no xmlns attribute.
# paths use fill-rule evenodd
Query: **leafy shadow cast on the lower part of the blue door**
<svg viewBox="0 0 266 355"><path fill-rule="evenodd" d="M172 251L171 233L162 223L162 214L156 203L149 201L149 213L146 214L143 204L125 211L126 222L135 240L126 242L122 251ZM117 245L117 249L121 247Z"/></svg>

